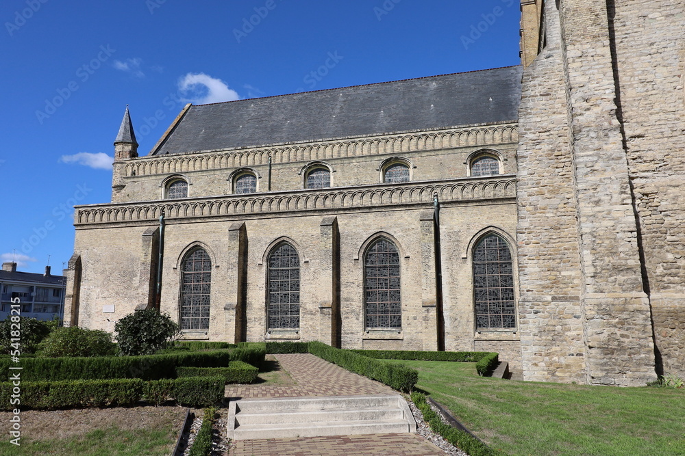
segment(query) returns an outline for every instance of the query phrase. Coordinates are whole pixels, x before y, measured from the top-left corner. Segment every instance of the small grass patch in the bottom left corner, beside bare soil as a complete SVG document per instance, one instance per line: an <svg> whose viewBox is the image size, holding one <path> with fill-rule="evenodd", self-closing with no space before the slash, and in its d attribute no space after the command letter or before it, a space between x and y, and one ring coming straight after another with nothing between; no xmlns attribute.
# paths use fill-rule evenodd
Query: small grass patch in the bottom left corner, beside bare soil
<svg viewBox="0 0 685 456"><path fill-rule="evenodd" d="M66 439L21 439L21 446L0 442L0 455L168 456L174 442L169 429L122 431L116 427L95 429Z"/></svg>

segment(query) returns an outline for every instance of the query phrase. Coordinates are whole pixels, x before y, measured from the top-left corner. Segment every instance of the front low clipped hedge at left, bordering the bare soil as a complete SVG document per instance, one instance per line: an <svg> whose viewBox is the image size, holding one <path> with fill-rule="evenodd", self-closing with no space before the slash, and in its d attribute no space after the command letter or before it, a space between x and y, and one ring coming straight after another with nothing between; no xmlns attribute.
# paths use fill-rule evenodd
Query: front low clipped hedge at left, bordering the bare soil
<svg viewBox="0 0 685 456"><path fill-rule="evenodd" d="M176 401L189 407L206 407L221 401L224 396L223 377L22 381L19 404L10 402L13 388L11 382L0 383L1 410L108 407L134 405L138 401L155 405Z"/></svg>

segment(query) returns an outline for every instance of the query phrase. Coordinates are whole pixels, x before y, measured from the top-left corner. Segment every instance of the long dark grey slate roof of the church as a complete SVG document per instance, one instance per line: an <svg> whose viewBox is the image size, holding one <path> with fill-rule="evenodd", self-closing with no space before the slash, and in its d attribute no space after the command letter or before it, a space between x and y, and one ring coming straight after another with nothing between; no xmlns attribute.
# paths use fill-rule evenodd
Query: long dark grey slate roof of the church
<svg viewBox="0 0 685 456"><path fill-rule="evenodd" d="M516 122L521 72L510 66L190 106L150 155Z"/></svg>

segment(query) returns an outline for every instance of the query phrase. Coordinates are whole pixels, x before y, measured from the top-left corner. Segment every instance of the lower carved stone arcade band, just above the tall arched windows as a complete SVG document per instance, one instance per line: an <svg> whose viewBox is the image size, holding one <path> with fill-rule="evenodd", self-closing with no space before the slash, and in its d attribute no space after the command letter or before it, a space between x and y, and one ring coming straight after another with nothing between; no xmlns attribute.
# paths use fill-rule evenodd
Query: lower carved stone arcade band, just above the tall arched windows
<svg viewBox="0 0 685 456"><path fill-rule="evenodd" d="M99 224L155 222L162 212L166 219L231 217L266 213L305 211L347 211L360 208L433 204L440 202L495 200L516 196L516 176L431 180L416 183L365 185L331 189L253 193L210 198L186 198L127 204L76 206L74 224L79 227Z"/></svg>

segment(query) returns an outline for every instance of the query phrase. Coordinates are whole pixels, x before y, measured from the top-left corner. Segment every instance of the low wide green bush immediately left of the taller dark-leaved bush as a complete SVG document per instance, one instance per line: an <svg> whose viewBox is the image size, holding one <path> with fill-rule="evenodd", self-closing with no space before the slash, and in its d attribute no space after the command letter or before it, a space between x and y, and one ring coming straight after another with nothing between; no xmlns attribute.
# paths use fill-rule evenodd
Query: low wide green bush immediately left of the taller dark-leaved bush
<svg viewBox="0 0 685 456"><path fill-rule="evenodd" d="M112 334L83 327L58 327L40 343L40 356L112 356L116 344Z"/></svg>

